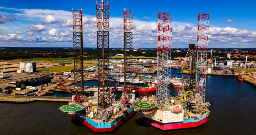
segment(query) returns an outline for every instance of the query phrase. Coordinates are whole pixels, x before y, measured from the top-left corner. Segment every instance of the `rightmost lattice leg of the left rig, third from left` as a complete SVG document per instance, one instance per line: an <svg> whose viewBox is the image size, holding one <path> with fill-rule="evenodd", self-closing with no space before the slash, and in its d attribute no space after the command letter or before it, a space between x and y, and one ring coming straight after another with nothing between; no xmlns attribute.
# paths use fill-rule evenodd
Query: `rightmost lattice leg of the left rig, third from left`
<svg viewBox="0 0 256 135"><path fill-rule="evenodd" d="M123 54L123 88L129 96L133 89L133 10L123 10ZM128 97L128 99L130 99L130 97Z"/></svg>

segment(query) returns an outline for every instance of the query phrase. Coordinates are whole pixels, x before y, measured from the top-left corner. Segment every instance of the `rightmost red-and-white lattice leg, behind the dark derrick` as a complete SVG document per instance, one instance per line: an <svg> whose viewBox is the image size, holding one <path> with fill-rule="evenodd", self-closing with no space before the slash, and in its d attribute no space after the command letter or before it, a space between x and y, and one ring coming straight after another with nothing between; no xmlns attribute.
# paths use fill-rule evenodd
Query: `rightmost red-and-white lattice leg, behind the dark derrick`
<svg viewBox="0 0 256 135"><path fill-rule="evenodd" d="M208 49L208 30L209 30L209 14L199 13L198 15L198 36L197 36L197 82L201 81L205 66L207 65L207 49ZM202 97L205 103L205 79L202 83L201 91L196 91ZM198 87L198 86L196 86ZM200 102L201 102L200 101Z"/></svg>

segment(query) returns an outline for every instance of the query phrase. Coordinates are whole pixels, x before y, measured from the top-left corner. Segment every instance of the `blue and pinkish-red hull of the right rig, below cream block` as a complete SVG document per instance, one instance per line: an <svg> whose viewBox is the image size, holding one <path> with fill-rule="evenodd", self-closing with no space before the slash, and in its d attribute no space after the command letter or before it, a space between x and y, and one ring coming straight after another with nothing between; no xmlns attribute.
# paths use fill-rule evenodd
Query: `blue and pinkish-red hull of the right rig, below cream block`
<svg viewBox="0 0 256 135"><path fill-rule="evenodd" d="M204 115L198 119L184 119L183 122L172 122L172 123L160 123L148 117L146 118L146 123L163 131L182 129L182 128L194 128L199 127L208 121L208 116Z"/></svg>

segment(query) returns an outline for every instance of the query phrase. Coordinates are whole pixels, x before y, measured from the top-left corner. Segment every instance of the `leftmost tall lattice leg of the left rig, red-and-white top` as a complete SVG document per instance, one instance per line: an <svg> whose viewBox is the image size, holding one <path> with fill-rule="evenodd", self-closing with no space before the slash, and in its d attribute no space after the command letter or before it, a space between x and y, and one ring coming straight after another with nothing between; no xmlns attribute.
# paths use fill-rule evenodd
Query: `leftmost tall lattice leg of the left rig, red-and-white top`
<svg viewBox="0 0 256 135"><path fill-rule="evenodd" d="M74 93L73 101L80 101L83 97L83 20L82 9L73 13L73 48L74 48Z"/></svg>

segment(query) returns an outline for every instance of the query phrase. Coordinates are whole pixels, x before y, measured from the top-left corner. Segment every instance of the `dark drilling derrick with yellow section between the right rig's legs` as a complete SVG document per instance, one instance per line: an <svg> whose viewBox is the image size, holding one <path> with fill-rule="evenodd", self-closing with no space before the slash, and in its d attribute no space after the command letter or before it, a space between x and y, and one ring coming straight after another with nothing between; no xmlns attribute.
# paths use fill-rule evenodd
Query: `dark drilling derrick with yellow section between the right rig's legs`
<svg viewBox="0 0 256 135"><path fill-rule="evenodd" d="M197 52L196 52L196 46L195 44L189 44L189 49L186 54L186 57L182 64L182 91L194 91L195 86L197 84L196 80L196 58L197 58Z"/></svg>

